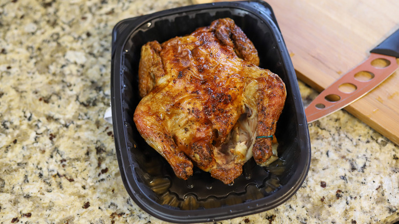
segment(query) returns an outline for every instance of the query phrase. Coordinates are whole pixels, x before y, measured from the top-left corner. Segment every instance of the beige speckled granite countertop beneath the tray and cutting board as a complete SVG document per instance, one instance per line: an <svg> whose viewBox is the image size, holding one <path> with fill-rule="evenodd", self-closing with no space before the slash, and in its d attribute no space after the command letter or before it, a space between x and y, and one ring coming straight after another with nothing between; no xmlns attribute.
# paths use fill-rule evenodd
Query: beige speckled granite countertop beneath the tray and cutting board
<svg viewBox="0 0 399 224"><path fill-rule="evenodd" d="M121 180L110 102L110 42L128 17L174 1L0 2L0 223L164 223ZM306 105L317 94L299 82ZM312 162L277 208L217 223L392 223L399 147L338 111L309 124Z"/></svg>

